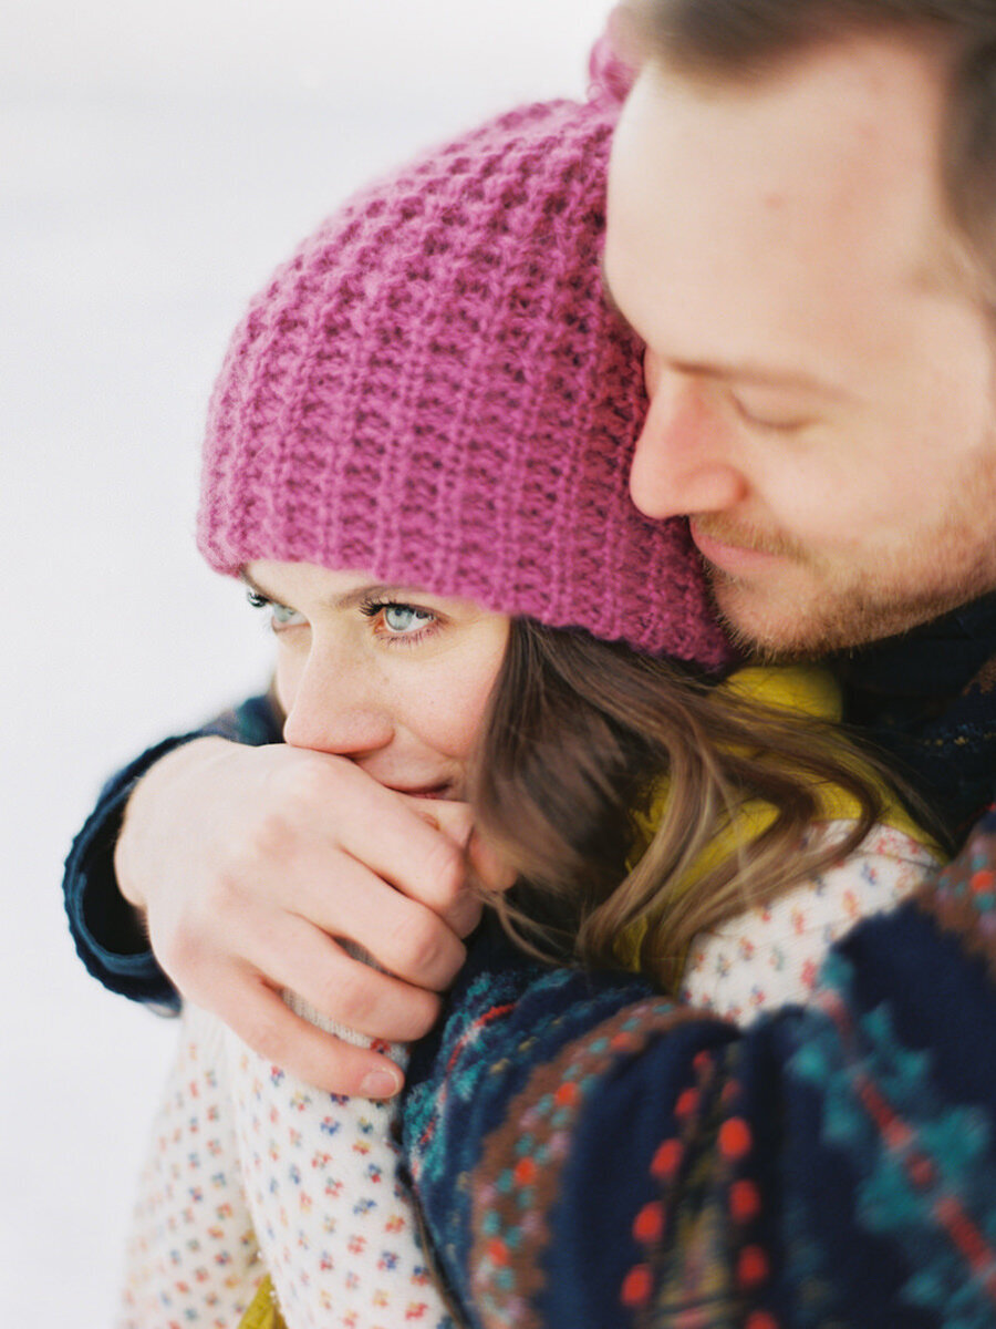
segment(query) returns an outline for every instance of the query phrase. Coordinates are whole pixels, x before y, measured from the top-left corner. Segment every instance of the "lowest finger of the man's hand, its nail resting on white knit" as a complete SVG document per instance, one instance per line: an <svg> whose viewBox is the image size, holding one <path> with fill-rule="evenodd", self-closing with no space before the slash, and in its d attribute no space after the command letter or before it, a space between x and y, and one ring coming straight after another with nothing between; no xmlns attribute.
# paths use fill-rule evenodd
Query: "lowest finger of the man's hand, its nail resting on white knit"
<svg viewBox="0 0 996 1329"><path fill-rule="evenodd" d="M264 1061L329 1094L392 1098L404 1084L389 1057L309 1025L259 978L246 975L231 985L227 999L214 1009Z"/></svg>

